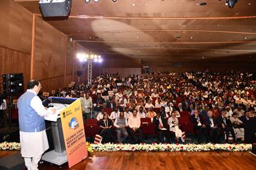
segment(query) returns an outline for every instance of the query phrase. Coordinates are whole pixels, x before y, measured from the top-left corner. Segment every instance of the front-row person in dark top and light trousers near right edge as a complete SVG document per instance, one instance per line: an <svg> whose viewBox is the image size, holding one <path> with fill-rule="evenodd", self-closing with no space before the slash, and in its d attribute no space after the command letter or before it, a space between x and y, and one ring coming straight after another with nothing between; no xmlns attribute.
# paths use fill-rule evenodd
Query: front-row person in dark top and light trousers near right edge
<svg viewBox="0 0 256 170"><path fill-rule="evenodd" d="M239 120L237 113L234 113L229 119L233 124L234 132L237 134L237 138L241 139L243 142L245 140L245 129L243 129L243 122Z"/></svg>

